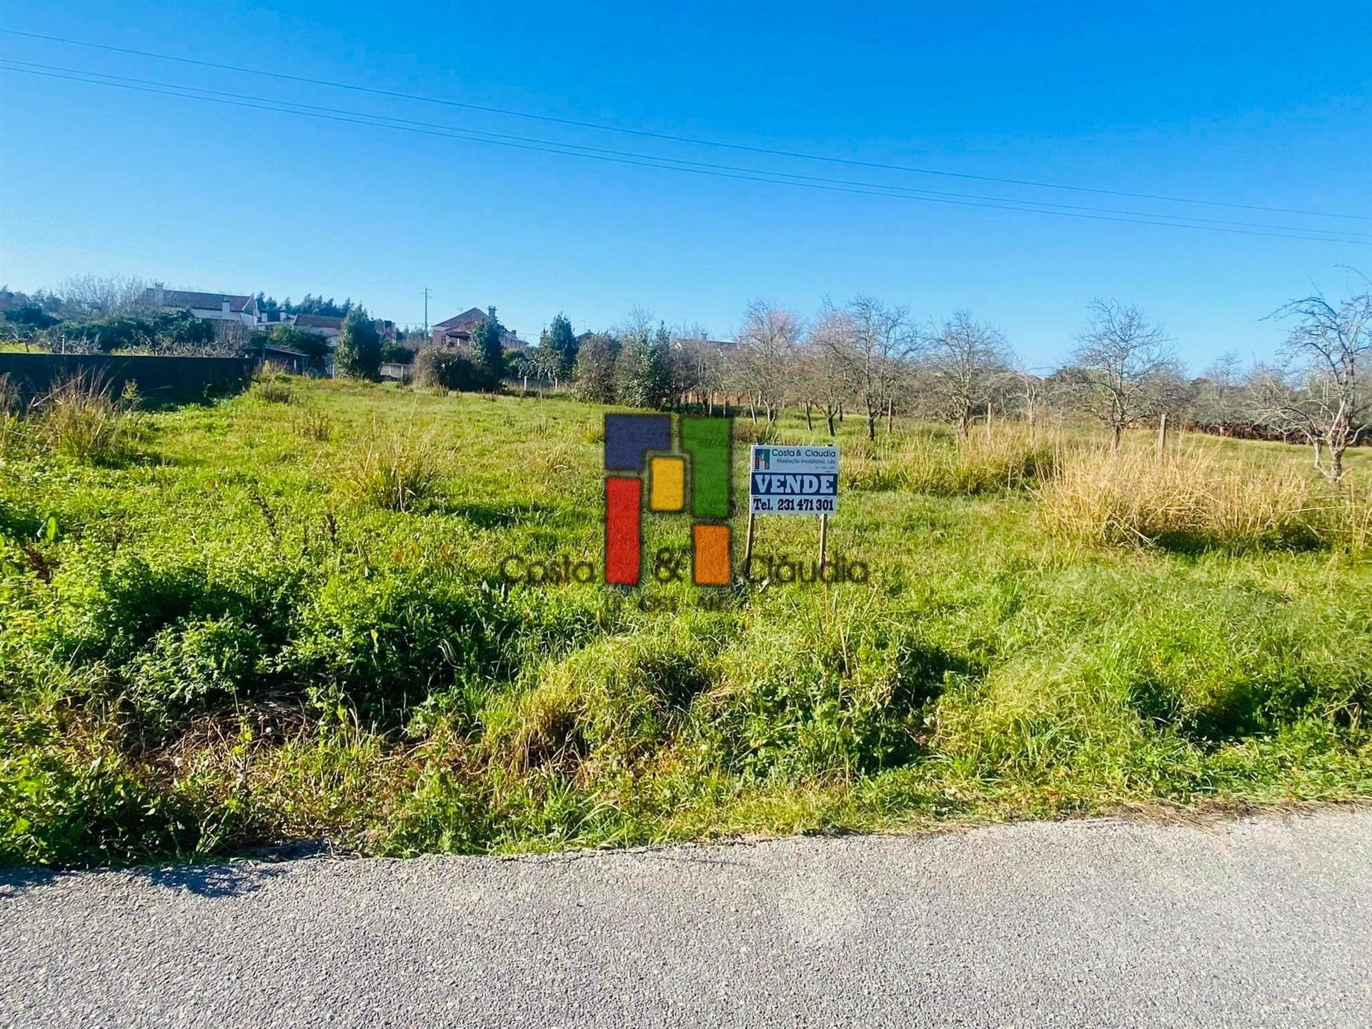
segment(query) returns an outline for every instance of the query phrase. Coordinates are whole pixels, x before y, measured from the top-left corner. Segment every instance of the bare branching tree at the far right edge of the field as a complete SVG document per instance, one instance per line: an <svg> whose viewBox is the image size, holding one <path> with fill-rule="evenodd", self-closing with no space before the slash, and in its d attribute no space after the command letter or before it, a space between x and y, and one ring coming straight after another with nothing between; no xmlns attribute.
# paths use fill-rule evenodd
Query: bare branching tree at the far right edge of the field
<svg viewBox="0 0 1372 1029"><path fill-rule="evenodd" d="M1365 277L1362 281L1372 285ZM1298 427L1314 446L1314 466L1336 483L1343 477L1343 451L1358 442L1372 418L1365 380L1372 359L1372 289L1338 306L1314 294L1283 305L1269 317L1294 318L1295 325L1283 347L1281 377L1288 388L1272 388L1261 399L1264 409ZM1321 446L1328 451L1327 462Z"/></svg>

